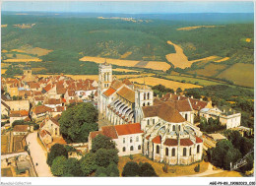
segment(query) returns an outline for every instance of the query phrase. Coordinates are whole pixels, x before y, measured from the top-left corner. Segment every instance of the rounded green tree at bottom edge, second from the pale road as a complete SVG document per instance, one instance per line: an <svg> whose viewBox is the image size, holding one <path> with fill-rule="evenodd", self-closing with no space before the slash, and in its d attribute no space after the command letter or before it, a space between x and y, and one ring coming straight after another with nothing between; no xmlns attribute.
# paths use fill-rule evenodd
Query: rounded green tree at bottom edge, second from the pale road
<svg viewBox="0 0 256 186"><path fill-rule="evenodd" d="M72 157L68 158L66 160L64 172L67 175L73 175L73 176L82 176L83 172L81 170L80 162L78 159Z"/></svg>

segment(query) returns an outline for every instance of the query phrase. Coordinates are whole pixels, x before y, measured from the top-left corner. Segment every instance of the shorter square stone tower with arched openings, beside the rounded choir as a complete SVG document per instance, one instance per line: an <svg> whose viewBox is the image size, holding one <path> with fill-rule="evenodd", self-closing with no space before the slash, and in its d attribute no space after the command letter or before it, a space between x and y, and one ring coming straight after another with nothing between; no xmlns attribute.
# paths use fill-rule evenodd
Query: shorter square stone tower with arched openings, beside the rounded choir
<svg viewBox="0 0 256 186"><path fill-rule="evenodd" d="M141 122L142 106L152 106L153 99L153 91L148 86L135 90L135 122Z"/></svg>

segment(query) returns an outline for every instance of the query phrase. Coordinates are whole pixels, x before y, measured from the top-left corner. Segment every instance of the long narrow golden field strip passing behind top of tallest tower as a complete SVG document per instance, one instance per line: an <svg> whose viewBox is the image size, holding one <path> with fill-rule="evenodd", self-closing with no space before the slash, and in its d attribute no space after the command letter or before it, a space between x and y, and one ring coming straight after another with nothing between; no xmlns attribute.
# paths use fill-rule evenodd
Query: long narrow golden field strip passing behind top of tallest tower
<svg viewBox="0 0 256 186"><path fill-rule="evenodd" d="M112 65L125 66L125 67L140 67L154 70L166 71L170 68L170 65L166 62L161 61L137 61L137 60L122 60L122 59L111 59L103 57L91 57L85 56L80 61L92 61L95 63L110 63Z"/></svg>

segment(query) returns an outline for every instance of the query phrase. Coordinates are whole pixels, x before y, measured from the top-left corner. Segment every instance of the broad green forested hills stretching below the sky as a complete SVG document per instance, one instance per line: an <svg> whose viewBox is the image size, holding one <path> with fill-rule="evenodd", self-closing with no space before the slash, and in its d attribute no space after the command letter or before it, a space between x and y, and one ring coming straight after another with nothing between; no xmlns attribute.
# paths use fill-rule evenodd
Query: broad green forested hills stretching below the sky
<svg viewBox="0 0 256 186"><path fill-rule="evenodd" d="M113 15L115 19L92 14L16 14L2 13L2 49L52 50L39 57L50 62L42 66L51 72L82 73L79 59L83 56L167 62L165 55L175 52L167 40L181 46L188 60L218 56L228 57L221 62L225 65L253 64L253 14ZM23 24L34 25L14 27Z"/></svg>

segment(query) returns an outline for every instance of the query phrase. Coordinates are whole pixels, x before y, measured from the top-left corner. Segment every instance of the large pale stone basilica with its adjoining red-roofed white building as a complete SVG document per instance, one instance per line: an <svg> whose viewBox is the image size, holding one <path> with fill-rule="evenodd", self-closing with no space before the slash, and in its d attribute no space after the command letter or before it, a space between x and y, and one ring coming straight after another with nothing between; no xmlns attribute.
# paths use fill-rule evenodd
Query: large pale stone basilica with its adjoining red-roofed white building
<svg viewBox="0 0 256 186"><path fill-rule="evenodd" d="M202 132L193 124L195 110L189 98L176 94L175 99L166 97L171 94L154 97L148 86L113 78L112 67L107 63L99 65L98 73L98 111L113 126L125 125L122 134L130 139L127 142L115 128L100 129L100 134L115 139L119 155L143 154L172 165L191 164L202 159ZM136 146L133 138L138 139Z"/></svg>

